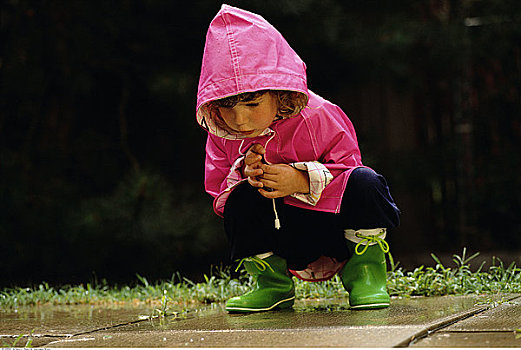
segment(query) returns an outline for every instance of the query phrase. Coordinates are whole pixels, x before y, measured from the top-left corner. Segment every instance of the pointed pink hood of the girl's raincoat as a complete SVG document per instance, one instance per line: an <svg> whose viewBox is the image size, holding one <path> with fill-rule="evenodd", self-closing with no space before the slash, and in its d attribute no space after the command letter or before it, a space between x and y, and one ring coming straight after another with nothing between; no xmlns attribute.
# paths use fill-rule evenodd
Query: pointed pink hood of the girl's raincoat
<svg viewBox="0 0 521 350"><path fill-rule="evenodd" d="M261 16L222 5L206 34L196 116L208 132L236 138L213 122L205 108L216 99L258 90L289 90L309 96L306 65Z"/></svg>

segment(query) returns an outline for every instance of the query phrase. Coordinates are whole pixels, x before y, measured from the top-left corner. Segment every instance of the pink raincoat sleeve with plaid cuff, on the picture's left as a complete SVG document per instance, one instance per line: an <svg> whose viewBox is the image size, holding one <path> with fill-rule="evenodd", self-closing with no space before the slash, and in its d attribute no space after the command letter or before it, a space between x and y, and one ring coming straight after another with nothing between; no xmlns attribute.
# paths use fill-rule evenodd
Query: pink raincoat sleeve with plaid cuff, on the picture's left
<svg viewBox="0 0 521 350"><path fill-rule="evenodd" d="M208 134L206 140L205 189L214 198L245 180L240 171L244 156L231 162L224 142L212 134Z"/></svg>

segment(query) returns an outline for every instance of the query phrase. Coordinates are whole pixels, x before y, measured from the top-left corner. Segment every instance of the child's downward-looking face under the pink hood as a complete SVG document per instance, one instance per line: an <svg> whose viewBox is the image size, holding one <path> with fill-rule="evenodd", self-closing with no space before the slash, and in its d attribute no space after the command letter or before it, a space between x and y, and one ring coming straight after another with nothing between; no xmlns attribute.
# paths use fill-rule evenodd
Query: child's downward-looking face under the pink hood
<svg viewBox="0 0 521 350"><path fill-rule="evenodd" d="M278 111L277 99L269 92L234 107L218 107L226 125L243 137L260 135L271 125Z"/></svg>

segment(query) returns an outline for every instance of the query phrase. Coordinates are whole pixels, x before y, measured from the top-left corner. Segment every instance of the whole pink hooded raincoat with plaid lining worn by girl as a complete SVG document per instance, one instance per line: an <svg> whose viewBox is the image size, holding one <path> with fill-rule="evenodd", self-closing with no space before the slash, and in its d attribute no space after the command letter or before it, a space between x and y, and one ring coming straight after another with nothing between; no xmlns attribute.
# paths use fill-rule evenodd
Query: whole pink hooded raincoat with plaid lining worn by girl
<svg viewBox="0 0 521 350"><path fill-rule="evenodd" d="M254 138L229 134L205 109L216 99L268 89L300 92L308 105ZM261 16L228 5L208 29L196 116L208 131L205 188L220 216L229 193L245 181L242 160L254 143L265 146L268 163L307 169L312 193L284 198L285 204L304 209L338 213L349 175L363 166L351 121L338 106L308 90L306 65L282 35Z"/></svg>

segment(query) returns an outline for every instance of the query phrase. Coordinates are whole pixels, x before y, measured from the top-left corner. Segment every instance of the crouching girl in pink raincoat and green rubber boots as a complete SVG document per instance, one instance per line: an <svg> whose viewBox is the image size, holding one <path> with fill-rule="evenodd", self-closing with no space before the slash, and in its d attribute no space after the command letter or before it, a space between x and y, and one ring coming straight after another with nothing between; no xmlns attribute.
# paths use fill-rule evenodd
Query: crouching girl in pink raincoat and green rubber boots
<svg viewBox="0 0 521 350"><path fill-rule="evenodd" d="M307 281L340 273L353 309L389 306L384 238L399 210L362 164L349 118L308 90L304 62L262 17L223 5L212 20L196 116L208 131L206 191L232 259L256 276L226 310L291 307L288 270Z"/></svg>

